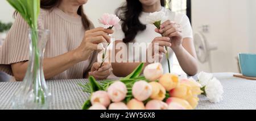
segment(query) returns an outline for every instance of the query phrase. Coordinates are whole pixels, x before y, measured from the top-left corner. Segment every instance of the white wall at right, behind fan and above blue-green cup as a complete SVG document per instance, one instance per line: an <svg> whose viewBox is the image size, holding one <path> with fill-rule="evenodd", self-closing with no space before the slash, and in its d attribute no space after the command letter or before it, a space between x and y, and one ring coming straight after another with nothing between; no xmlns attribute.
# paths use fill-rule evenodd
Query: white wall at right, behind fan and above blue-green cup
<svg viewBox="0 0 256 121"><path fill-rule="evenodd" d="M255 7L253 0L192 1L193 30L200 31L201 25L208 24L205 36L218 45L211 56L213 72L238 72L237 54L256 53ZM209 71L207 64L200 68Z"/></svg>

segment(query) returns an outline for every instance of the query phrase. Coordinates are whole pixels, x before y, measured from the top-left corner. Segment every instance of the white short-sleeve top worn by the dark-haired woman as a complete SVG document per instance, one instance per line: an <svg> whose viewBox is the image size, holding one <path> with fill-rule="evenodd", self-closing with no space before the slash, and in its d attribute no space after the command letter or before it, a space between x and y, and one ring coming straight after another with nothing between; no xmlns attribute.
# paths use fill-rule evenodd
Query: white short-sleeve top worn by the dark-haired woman
<svg viewBox="0 0 256 121"><path fill-rule="evenodd" d="M191 23L189 22L187 15L180 14L177 12L172 12L171 10L166 9L164 7L162 7L161 11L163 11L166 14L166 16L169 20L180 24L180 26L182 28L183 38L193 38ZM142 24L146 24L147 28L144 31L138 32L137 36L135 36L135 39L132 41L133 43L151 43L151 41L154 40L155 37L161 36L160 34L155 32L154 25L148 24L146 22L146 18L149 14L150 14L149 12L142 12L141 16L139 16L139 20L141 21ZM123 38L125 37L125 34L123 33L122 30L114 30L114 34L112 36L115 37L115 40L123 40ZM131 51L131 49L132 48L128 48L129 51ZM168 48L168 51L169 51L170 60L172 60L174 51L172 51L171 48ZM134 56L131 54L133 54L133 53L129 52L129 56ZM137 61L141 58L141 54L139 54L139 55L140 56L134 57L134 61ZM167 59L165 56L163 57L162 65L164 68L164 73L167 73L168 72L168 64L167 64ZM171 66L172 66L172 61L171 61Z"/></svg>

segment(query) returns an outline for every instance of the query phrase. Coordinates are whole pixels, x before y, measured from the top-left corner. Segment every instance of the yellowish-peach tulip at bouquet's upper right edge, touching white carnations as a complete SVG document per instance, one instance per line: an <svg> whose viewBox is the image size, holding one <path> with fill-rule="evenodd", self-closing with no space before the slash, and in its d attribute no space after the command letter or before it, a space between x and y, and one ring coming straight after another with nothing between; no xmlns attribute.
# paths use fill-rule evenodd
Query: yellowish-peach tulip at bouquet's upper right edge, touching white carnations
<svg viewBox="0 0 256 121"><path fill-rule="evenodd" d="M203 93L203 91L201 91L201 84L196 82L193 78L189 78L188 80L181 80L180 83L191 86L192 95L200 95Z"/></svg>

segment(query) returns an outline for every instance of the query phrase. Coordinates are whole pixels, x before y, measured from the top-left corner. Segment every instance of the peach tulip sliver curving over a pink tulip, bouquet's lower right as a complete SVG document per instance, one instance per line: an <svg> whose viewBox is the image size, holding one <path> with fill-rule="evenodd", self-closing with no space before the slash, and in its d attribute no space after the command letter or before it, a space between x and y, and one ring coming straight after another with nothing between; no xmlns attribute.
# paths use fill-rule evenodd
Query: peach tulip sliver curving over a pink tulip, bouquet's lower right
<svg viewBox="0 0 256 121"><path fill-rule="evenodd" d="M168 98L167 101L166 101L166 103L168 105L170 105L173 102L178 103L179 105L185 107L185 109L187 109L187 110L192 110L193 109L192 106L185 99L172 97L172 98Z"/></svg>

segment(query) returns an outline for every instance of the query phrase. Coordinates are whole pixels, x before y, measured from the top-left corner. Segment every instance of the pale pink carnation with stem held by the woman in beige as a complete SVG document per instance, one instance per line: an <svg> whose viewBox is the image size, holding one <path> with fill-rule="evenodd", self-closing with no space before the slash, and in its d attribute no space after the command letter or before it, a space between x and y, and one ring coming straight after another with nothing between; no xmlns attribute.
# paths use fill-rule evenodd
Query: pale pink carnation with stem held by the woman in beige
<svg viewBox="0 0 256 121"><path fill-rule="evenodd" d="M104 28L108 28L110 30L112 30L113 27L115 27L115 29L119 29L121 28L119 22L120 22L121 19L118 18L117 15L114 15L114 14L103 14L101 16L100 19L98 19L98 21L104 25ZM102 66L102 64L104 63L105 59L106 59L106 51L107 51L107 48L109 46L110 43L108 43L108 45L106 47L104 47L103 45L103 48L104 48L104 52L102 53L102 62L101 62L101 65L100 67Z"/></svg>

